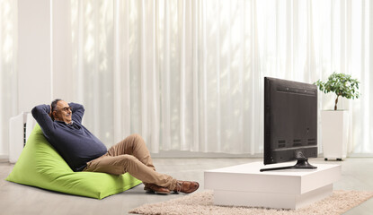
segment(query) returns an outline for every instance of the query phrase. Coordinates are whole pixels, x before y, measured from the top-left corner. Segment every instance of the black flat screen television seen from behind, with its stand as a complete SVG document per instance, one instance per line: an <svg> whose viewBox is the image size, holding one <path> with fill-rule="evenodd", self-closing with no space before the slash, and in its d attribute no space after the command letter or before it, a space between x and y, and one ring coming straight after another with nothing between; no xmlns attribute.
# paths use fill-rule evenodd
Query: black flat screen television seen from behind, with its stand
<svg viewBox="0 0 373 215"><path fill-rule="evenodd" d="M316 168L317 88L314 84L264 77L264 165L297 160L289 167Z"/></svg>

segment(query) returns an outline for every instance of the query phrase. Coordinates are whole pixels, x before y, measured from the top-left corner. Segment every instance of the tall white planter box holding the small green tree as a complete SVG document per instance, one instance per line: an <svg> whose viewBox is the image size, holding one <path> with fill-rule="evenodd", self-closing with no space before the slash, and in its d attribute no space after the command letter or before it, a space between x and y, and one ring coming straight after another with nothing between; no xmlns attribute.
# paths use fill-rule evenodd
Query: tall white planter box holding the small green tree
<svg viewBox="0 0 373 215"><path fill-rule="evenodd" d="M321 112L321 126L321 141L325 160L345 159L349 139L349 111L323 110Z"/></svg>

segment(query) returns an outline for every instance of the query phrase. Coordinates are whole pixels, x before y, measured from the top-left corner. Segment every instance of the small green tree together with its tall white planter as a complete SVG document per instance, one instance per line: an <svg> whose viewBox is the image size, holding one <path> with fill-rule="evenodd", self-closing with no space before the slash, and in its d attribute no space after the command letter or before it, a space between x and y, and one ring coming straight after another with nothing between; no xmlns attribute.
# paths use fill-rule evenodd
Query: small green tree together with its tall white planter
<svg viewBox="0 0 373 215"><path fill-rule="evenodd" d="M336 95L334 110L321 112L321 141L324 159L342 160L347 157L347 142L349 138L349 111L338 110L339 97L358 99L359 81L352 79L350 74L332 73L326 82L318 80L315 85L324 93L333 92Z"/></svg>

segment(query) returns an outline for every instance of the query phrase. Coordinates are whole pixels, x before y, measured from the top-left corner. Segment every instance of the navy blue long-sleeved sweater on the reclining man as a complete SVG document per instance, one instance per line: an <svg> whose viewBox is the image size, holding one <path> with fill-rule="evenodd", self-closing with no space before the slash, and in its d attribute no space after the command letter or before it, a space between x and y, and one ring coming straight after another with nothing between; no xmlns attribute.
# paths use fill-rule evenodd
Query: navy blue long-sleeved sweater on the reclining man
<svg viewBox="0 0 373 215"><path fill-rule="evenodd" d="M86 162L96 159L107 152L105 145L81 123L84 107L76 103L68 104L73 109L72 125L53 121L49 117L50 106L40 105L32 108L36 119L49 143L67 161L74 171L82 171Z"/></svg>

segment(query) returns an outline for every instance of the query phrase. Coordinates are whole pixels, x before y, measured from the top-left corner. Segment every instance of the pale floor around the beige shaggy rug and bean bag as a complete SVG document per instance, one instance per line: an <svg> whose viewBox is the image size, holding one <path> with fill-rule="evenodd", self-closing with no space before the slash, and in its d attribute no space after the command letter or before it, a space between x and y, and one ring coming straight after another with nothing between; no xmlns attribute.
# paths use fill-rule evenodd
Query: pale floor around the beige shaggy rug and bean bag
<svg viewBox="0 0 373 215"><path fill-rule="evenodd" d="M154 159L157 171L182 180L200 182L203 191L203 171L223 168L262 159ZM311 159L311 164L324 163L324 159ZM373 158L349 158L327 161L342 164L342 179L334 184L336 190L373 191ZM4 180L13 165L0 163L0 214L128 214L132 208L144 203L161 202L183 194L156 195L143 191L143 185L102 200L53 193L39 188L18 185ZM373 198L345 214L373 214Z"/></svg>

